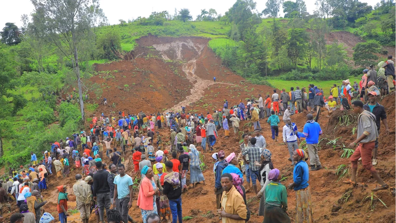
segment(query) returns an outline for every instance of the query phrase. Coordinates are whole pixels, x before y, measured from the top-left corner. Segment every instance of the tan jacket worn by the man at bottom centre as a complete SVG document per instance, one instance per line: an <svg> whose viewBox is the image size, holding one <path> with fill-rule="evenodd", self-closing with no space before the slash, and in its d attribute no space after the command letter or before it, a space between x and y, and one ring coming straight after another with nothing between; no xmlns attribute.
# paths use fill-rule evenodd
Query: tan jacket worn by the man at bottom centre
<svg viewBox="0 0 396 223"><path fill-rule="evenodd" d="M232 185L228 193L223 191L221 196L221 207L229 214L239 215L242 219L246 219L247 209L242 195ZM228 217L223 217L223 223L245 223L245 220L234 220Z"/></svg>

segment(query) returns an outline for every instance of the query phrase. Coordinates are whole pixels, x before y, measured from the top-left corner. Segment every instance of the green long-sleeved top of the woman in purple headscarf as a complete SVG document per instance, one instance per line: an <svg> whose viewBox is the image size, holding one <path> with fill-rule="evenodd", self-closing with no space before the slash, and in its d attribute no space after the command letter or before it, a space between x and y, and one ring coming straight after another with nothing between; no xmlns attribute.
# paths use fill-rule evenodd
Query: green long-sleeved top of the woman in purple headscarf
<svg viewBox="0 0 396 223"><path fill-rule="evenodd" d="M286 186L281 183L271 181L265 187L265 203L272 206L286 206L287 207L287 191Z"/></svg>

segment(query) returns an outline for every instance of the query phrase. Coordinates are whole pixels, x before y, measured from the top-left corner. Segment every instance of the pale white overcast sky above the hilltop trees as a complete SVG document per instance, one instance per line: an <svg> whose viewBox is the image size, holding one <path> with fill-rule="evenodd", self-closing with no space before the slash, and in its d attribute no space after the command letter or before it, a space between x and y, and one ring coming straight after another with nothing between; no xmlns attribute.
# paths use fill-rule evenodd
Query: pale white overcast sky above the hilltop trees
<svg viewBox="0 0 396 223"><path fill-rule="evenodd" d="M191 12L193 19L196 19L197 15L201 14L202 9L209 11L209 8L214 8L218 14L224 15L224 13L236 2L235 0L99 0L101 8L105 12L107 19L110 24L118 24L119 19L135 19L139 16L148 17L151 12L159 12L168 10L172 15L175 12L175 8L180 10L181 8L188 8ZM307 5L307 11L312 14L316 10L316 0L305 0ZM361 2L367 2L369 5L374 6L380 0L360 0ZM256 0L256 9L261 12L265 9L265 2L267 0ZM16 0L14 1L1 1L2 12L0 13L0 29L4 27L7 22L15 23L18 27L21 27L21 15L33 12L33 5L30 0ZM280 10L281 16L283 10Z"/></svg>

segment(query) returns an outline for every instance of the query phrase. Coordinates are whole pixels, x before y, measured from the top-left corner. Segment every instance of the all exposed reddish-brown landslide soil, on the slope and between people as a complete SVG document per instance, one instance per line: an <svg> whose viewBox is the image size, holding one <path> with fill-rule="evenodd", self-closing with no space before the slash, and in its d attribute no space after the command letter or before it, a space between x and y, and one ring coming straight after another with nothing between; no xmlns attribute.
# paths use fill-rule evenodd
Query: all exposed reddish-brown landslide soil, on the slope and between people
<svg viewBox="0 0 396 223"><path fill-rule="evenodd" d="M134 61L96 65L98 74L91 77L90 80L103 87L103 97L108 99L109 104L116 103L116 108L101 105L96 113L104 112L105 114L109 114L110 110L116 112L122 110L131 113L138 113L141 110L145 112L162 112L164 109L169 110L172 108L179 110L175 105L180 106L179 103L184 101L183 103L187 103L188 105L188 111L206 114L206 112L213 113L214 109L222 108L225 99L228 100L230 106L233 106L239 104L239 100L243 100L246 103L246 98L257 97L256 94L258 92L262 95L272 92L272 88L268 86L251 85L248 82L242 81L242 77L235 75L227 67L221 66L221 61L207 47L207 41L203 38L143 37L138 41L140 46L134 52L136 56ZM177 42L180 44L176 44ZM174 45L168 48L168 50L161 51L166 44ZM179 46L181 48L180 51L178 51ZM178 55L180 55L179 59ZM168 57L169 60L173 60L173 62L164 62L164 56ZM177 68L177 74L174 72L175 67ZM186 73L183 72L183 68L187 70ZM115 72L115 70L118 72ZM114 78L110 77L104 81L103 77L108 75L107 71L109 71L109 74L114 75ZM213 82L213 76L216 76L217 81L220 83L210 85ZM110 86L110 88L107 88L104 83ZM135 85L132 85L132 83L135 83ZM199 89L194 89L197 83L200 84L200 87ZM131 87L129 91L120 90L116 87L123 87L125 84ZM148 87L148 85L153 85L155 91L153 91L152 87ZM193 98L188 98L190 101L185 101L188 96L193 94L196 95ZM93 92L91 92L90 96L94 98ZM385 129L383 127L381 128L378 152L379 163L375 166L379 175L391 186L396 183L396 165L394 163L396 158L396 146L394 144L396 126L396 119L394 118L396 115L395 100L396 94L392 94L383 98L381 102L386 108L391 132L389 135L385 135ZM296 122L299 130L303 129L306 114L304 112L292 116L292 120ZM370 173L363 169L361 165L359 165L356 180L367 183L368 187L352 188L349 185L344 185L341 181L337 182L338 176L335 175L335 169L341 164L349 166L350 161L349 159L340 158L342 154L341 150L333 150L333 147L326 145L326 143L329 140L342 136L337 141L337 144L348 145L356 138L356 133L352 135L352 128L356 126L356 122L352 122L348 126L340 126L339 117L344 115L343 112L335 112L330 118L327 118L326 115L327 112L323 111L318 121L322 130L325 131L325 134L320 138L327 138L320 143L321 150L319 152L320 161L325 169L310 172L309 181L312 191L312 210L315 222L395 222L396 198L391 196L388 191L382 190L375 192L375 195L381 198L388 208L385 208L375 198L373 201L374 210L371 211L369 200L363 199L375 187L376 182ZM260 122L263 128L263 135L267 139L268 149L272 152L274 167L280 169L281 174L288 177L285 181L282 181L284 185L288 185L293 181L293 168L290 162L287 161L289 157L287 148L281 143L282 131L280 130L279 133L280 141L272 144L270 127L267 124L267 120L261 120ZM280 126L283 125L283 123L280 123ZM240 126L240 131L251 131L246 121L242 121ZM169 148L169 130L160 129L159 132L162 135L162 139L166 145L165 147ZM224 131L219 131L219 138L214 149L216 152L221 149L225 150L227 155L231 152L239 153L238 142L239 138L237 139L237 136L232 131L228 139L224 138ZM198 149L201 150L200 147ZM129 161L130 155L131 153L128 152L124 156L125 161L123 163L126 164L127 173L135 178L136 174L132 173L133 166ZM109 163L107 158L103 160ZM212 192L214 179L211 154L205 154L204 163L208 166L203 171L206 185L198 184L198 188L190 189L182 195L183 216L194 217L188 220L191 223L220 222L216 215L215 196ZM54 176L49 177L49 189L43 193L44 199L49 202L44 208L53 214L56 220L58 217L56 211L57 190L55 186L62 184L68 185L69 209L74 209L75 197L71 188L75 182L74 175L78 172L80 171L72 170L70 177L67 179L57 180ZM187 182L189 182L189 176L187 177ZM247 186L246 183L245 186ZM341 196L348 190L352 190L352 195L348 201L345 203L339 201ZM292 190L288 190L287 193L288 213L293 222L295 219L295 193ZM138 192L136 190L133 204L136 204L137 194ZM249 200L248 206L253 213L249 222L262 222L263 217L257 216L259 200L255 199L254 194L251 192L247 193L247 200ZM15 211L16 207L13 206L13 212ZM78 213L72 215L69 218L70 222L78 222L78 215ZM133 219L141 221L140 210L136 205L129 210L129 215ZM10 214L5 214L4 216L7 221ZM95 222L94 215L91 215L89 222Z"/></svg>

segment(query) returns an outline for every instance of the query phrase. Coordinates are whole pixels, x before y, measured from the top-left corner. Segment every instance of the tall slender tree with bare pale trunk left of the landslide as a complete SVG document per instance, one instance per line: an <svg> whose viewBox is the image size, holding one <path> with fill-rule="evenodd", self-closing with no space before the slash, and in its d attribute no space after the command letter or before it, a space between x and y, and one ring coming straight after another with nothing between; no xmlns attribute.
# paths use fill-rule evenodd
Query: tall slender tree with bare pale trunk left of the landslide
<svg viewBox="0 0 396 223"><path fill-rule="evenodd" d="M77 76L81 118L85 121L84 101L82 100L82 81L78 48L84 43L94 42L92 27L95 19L105 20L97 0L32 0L34 12L32 23L36 33L48 44L55 46L72 62ZM84 42L85 41L85 42Z"/></svg>

